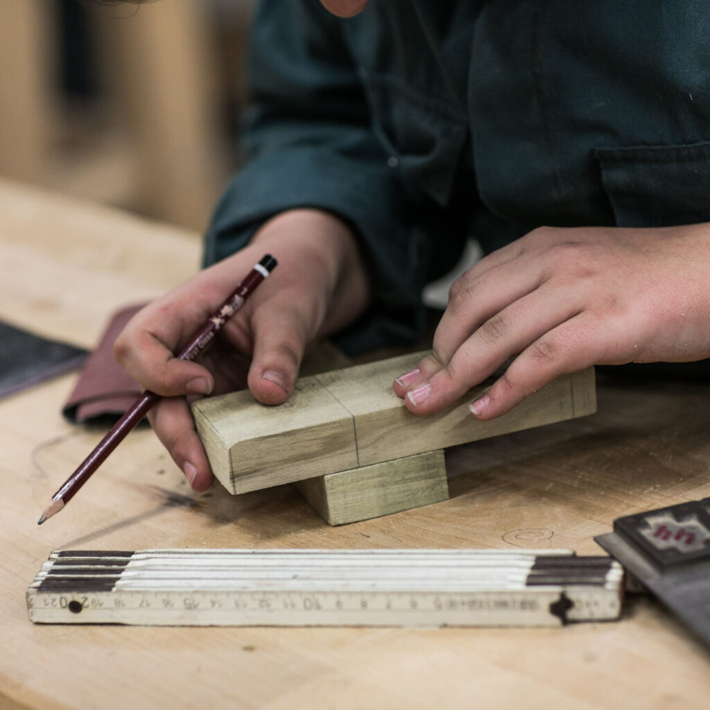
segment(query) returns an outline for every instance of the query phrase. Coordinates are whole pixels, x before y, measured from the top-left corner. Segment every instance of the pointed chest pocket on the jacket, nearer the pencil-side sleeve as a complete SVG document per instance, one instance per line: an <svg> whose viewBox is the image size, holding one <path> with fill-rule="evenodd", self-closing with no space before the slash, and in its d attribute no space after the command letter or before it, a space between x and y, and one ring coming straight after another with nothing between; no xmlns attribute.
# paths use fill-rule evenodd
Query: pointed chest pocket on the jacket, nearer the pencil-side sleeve
<svg viewBox="0 0 710 710"><path fill-rule="evenodd" d="M372 130L414 192L424 190L441 205L451 196L466 119L455 104L428 97L390 75L360 71Z"/></svg>

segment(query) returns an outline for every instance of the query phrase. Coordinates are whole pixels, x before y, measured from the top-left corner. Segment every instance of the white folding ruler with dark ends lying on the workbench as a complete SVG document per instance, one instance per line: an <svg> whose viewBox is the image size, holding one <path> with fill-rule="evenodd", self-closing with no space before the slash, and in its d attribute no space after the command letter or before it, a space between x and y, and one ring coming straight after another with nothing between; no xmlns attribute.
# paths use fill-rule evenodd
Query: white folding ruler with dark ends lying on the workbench
<svg viewBox="0 0 710 710"><path fill-rule="evenodd" d="M166 626L559 626L618 618L623 569L567 550L58 551L31 621Z"/></svg>

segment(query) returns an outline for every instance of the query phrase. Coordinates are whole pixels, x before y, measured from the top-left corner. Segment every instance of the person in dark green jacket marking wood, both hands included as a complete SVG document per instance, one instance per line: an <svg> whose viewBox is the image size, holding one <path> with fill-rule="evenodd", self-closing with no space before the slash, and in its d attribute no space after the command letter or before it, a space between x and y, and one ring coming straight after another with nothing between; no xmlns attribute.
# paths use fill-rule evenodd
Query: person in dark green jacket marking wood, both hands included
<svg viewBox="0 0 710 710"><path fill-rule="evenodd" d="M264 1L246 165L204 270L146 307L115 354L168 398L151 422L211 481L185 395L266 404L302 356L412 342L420 291L467 236L430 355L393 383L430 415L509 363L471 415L593 364L710 356L710 92L700 0ZM173 352L263 253L279 266L201 364Z"/></svg>

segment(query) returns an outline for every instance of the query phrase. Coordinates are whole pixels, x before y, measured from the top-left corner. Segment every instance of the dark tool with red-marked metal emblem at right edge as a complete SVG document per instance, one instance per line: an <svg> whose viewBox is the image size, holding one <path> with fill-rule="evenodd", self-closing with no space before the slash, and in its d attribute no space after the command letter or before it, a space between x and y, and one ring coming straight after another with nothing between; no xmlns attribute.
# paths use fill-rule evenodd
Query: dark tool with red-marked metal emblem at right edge
<svg viewBox="0 0 710 710"><path fill-rule="evenodd" d="M594 539L710 645L710 498L626 515Z"/></svg>

